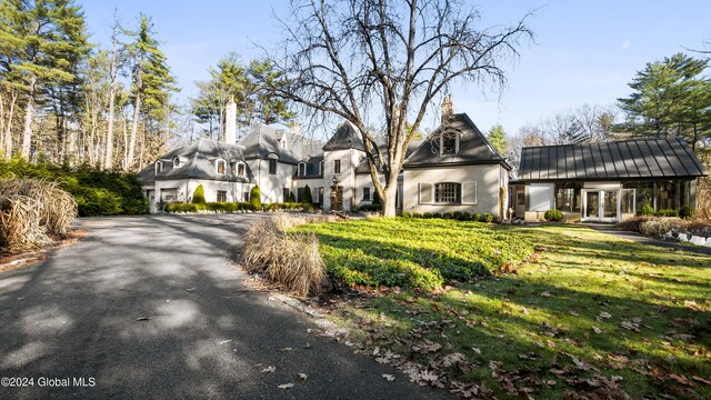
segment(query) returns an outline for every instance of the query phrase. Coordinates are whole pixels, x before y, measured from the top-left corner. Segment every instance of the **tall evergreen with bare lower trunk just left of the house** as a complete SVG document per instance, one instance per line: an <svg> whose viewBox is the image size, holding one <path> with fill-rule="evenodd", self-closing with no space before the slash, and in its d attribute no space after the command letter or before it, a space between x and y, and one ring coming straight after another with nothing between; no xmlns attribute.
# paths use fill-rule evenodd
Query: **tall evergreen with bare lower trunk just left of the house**
<svg viewBox="0 0 711 400"><path fill-rule="evenodd" d="M133 103L133 122L124 168L133 166L136 138L138 136L139 117L150 122L162 121L168 110L170 92L174 91L174 78L170 74L166 56L159 49L159 41L153 37L153 23L147 16L139 17L139 28L129 32L133 42L128 51L132 62L131 100Z"/></svg>

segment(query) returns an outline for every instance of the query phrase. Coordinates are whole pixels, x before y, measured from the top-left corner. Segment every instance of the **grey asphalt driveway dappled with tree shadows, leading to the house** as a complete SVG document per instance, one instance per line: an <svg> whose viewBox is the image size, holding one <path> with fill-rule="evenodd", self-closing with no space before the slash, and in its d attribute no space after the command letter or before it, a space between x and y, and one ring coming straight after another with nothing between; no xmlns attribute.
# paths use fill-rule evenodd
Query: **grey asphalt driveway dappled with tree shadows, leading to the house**
<svg viewBox="0 0 711 400"><path fill-rule="evenodd" d="M0 272L0 377L24 386L0 398L448 397L251 290L228 254L252 218L83 219L84 240Z"/></svg>

